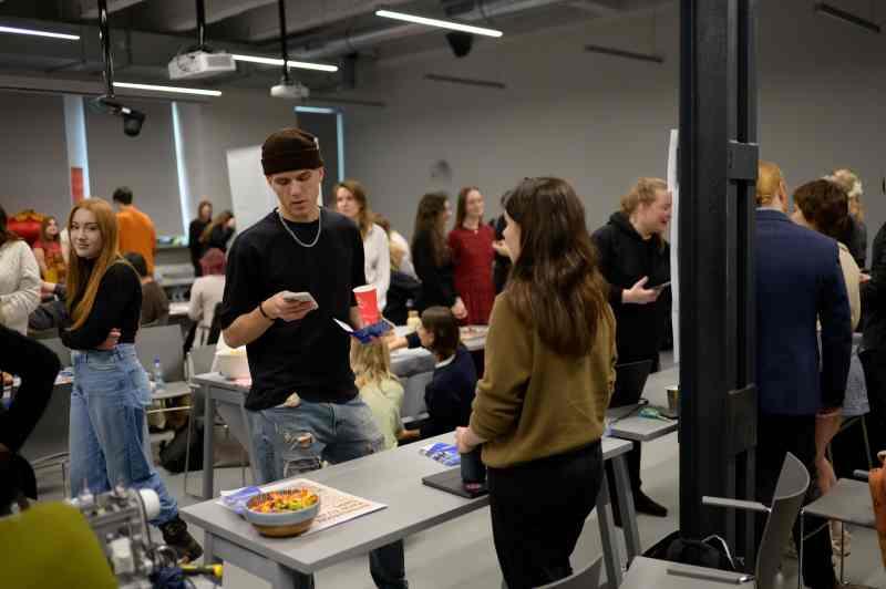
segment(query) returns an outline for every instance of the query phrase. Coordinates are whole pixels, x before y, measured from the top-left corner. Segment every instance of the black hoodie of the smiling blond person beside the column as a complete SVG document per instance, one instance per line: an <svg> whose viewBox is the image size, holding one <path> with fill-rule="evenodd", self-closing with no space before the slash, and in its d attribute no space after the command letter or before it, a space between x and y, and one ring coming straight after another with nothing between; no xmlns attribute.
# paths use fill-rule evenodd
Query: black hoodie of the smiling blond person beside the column
<svg viewBox="0 0 886 589"><path fill-rule="evenodd" d="M618 362L657 360L668 322L668 297L649 304L622 303L621 290L630 289L645 276L649 277L647 288L669 281L670 246L658 236L640 237L620 211L614 213L591 238L600 255L602 276L610 285Z"/></svg>

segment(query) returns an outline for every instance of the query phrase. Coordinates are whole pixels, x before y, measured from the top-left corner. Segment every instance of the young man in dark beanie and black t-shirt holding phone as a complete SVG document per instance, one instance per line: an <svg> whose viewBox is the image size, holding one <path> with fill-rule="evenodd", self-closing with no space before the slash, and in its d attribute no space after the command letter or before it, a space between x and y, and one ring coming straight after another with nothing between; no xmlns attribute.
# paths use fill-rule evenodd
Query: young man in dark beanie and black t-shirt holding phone
<svg viewBox="0 0 886 589"><path fill-rule="evenodd" d="M261 147L261 166L279 207L243 231L228 254L219 321L225 342L246 345L253 386L253 443L260 483L381 451L383 436L358 395L350 337L361 328L353 289L365 283L360 230L318 205L323 161L317 140L285 128ZM313 302L287 302L285 292ZM405 589L403 542L370 552L382 589ZM300 579L313 586L312 577Z"/></svg>

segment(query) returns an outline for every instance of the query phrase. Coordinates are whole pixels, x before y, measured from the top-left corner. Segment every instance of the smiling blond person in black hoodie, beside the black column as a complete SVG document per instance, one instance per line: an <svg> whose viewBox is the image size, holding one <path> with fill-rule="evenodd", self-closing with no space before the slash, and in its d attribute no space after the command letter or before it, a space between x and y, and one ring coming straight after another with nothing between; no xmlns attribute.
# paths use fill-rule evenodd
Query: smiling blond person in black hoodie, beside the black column
<svg viewBox="0 0 886 589"><path fill-rule="evenodd" d="M669 308L659 298L670 281L670 247L664 232L671 218L671 194L664 180L640 178L621 198L621 210L591 236L600 269L610 285L609 304L616 316L618 362L642 360L659 366ZM611 467L607 465L611 477ZM628 454L628 474L638 512L664 517L668 510L649 498L640 479L640 444Z"/></svg>

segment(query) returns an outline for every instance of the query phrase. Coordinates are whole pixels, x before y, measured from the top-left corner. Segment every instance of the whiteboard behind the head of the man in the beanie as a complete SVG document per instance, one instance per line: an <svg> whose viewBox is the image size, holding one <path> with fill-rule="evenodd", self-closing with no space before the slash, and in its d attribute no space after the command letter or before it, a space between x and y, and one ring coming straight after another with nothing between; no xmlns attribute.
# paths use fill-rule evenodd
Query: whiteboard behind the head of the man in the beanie
<svg viewBox="0 0 886 589"><path fill-rule="evenodd" d="M243 231L267 216L277 207L277 195L268 186L261 169L261 146L253 145L227 151L230 200L237 230ZM323 205L323 187L317 195L317 205Z"/></svg>

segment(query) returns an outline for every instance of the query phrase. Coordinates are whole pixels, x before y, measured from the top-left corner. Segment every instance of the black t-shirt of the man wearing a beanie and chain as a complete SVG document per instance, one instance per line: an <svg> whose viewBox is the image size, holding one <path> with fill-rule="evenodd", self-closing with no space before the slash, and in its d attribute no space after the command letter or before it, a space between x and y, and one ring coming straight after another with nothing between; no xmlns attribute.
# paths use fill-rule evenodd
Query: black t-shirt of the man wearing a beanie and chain
<svg viewBox="0 0 886 589"><path fill-rule="evenodd" d="M300 321L278 319L247 344L251 411L279 405L293 392L315 403L347 403L357 395L350 335L332 318L350 322L352 290L365 283L363 241L347 217L327 209L320 215L320 238L311 248L292 239L275 210L241 232L228 254L222 329L281 290L310 292L319 307ZM311 244L320 221L285 223Z"/></svg>

